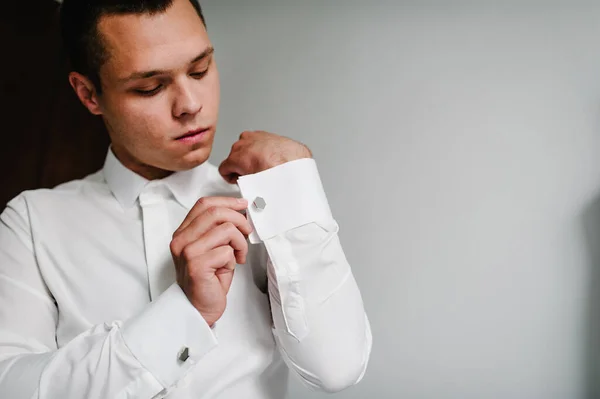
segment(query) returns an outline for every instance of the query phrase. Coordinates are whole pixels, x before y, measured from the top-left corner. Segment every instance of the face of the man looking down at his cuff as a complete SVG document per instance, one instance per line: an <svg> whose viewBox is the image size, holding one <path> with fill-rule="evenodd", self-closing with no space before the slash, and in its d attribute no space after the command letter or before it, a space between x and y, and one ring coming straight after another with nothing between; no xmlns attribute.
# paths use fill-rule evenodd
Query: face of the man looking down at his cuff
<svg viewBox="0 0 600 399"><path fill-rule="evenodd" d="M99 104L115 155L146 178L205 162L219 112L208 34L189 0L164 13L102 17Z"/></svg>

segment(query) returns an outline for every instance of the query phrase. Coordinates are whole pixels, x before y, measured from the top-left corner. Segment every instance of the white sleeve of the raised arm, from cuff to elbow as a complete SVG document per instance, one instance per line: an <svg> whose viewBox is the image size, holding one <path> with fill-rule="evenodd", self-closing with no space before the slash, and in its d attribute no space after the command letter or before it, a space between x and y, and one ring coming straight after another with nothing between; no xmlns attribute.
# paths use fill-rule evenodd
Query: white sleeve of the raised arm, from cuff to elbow
<svg viewBox="0 0 600 399"><path fill-rule="evenodd" d="M266 249L273 333L286 364L328 392L358 383L372 335L316 163L301 159L238 180Z"/></svg>

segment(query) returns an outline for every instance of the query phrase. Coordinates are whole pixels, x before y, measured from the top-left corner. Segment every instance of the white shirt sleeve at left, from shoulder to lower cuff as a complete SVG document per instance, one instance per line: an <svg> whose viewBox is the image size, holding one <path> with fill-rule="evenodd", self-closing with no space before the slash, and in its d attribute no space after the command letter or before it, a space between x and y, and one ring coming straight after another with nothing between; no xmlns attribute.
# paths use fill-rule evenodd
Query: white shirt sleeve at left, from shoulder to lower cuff
<svg viewBox="0 0 600 399"><path fill-rule="evenodd" d="M173 284L138 315L94 326L59 348L58 309L32 243L19 196L0 215L0 397L162 397L217 346Z"/></svg>

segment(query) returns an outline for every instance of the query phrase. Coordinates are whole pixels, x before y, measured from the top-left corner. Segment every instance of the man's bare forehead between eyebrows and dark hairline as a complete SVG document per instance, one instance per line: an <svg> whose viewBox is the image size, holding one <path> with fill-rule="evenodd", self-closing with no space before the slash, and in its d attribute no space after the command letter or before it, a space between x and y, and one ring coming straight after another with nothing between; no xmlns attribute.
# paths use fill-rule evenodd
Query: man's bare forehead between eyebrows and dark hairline
<svg viewBox="0 0 600 399"><path fill-rule="evenodd" d="M174 0L163 13L103 16L98 31L108 52L107 78L181 68L210 46L206 29L188 0Z"/></svg>

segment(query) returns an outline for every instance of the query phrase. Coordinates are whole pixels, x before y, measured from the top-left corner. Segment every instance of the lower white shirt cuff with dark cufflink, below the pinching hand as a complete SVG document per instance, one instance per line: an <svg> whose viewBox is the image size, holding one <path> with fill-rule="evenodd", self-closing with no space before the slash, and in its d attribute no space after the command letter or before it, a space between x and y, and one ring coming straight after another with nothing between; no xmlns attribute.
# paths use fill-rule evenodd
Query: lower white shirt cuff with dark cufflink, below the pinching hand
<svg viewBox="0 0 600 399"><path fill-rule="evenodd" d="M167 389L218 345L177 283L127 320L121 333L133 356Z"/></svg>

